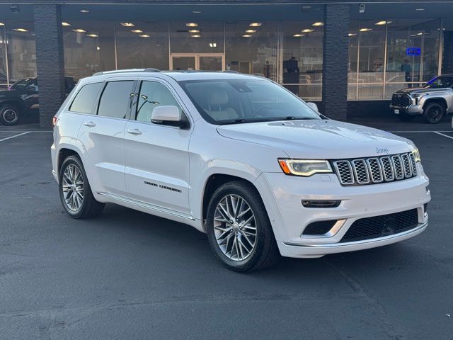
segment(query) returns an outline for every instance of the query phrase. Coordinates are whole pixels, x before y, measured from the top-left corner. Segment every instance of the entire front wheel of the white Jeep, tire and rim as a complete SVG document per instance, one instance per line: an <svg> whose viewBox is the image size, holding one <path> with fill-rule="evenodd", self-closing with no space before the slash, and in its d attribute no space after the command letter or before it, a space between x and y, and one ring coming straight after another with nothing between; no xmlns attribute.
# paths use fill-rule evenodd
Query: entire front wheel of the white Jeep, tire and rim
<svg viewBox="0 0 453 340"><path fill-rule="evenodd" d="M231 271L257 271L280 258L268 212L246 181L225 183L214 192L206 228L214 254Z"/></svg>

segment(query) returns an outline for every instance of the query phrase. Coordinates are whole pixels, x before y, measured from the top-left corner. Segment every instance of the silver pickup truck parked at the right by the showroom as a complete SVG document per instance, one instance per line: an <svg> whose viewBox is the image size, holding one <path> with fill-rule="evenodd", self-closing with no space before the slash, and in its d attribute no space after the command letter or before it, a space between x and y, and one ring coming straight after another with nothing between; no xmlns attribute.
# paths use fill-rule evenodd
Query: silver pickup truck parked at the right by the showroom
<svg viewBox="0 0 453 340"><path fill-rule="evenodd" d="M453 113L453 74L435 77L423 87L396 91L390 108L401 120L423 115L427 123L439 123Z"/></svg>

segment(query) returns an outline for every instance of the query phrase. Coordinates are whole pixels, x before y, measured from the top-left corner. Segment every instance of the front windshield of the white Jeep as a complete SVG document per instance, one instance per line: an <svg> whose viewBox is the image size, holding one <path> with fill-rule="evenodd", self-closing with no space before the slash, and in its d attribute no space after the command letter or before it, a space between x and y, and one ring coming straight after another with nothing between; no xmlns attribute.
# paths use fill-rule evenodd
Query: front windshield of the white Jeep
<svg viewBox="0 0 453 340"><path fill-rule="evenodd" d="M216 79L179 84L212 124L321 119L304 101L271 81Z"/></svg>

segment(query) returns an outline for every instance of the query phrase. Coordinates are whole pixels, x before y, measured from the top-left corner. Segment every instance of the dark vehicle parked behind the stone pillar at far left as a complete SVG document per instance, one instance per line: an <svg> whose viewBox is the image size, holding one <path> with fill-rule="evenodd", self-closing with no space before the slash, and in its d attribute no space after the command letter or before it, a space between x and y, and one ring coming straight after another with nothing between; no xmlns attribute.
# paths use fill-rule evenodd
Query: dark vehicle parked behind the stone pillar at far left
<svg viewBox="0 0 453 340"><path fill-rule="evenodd" d="M65 77L66 95L74 88L74 79ZM0 123L16 125L23 115L38 113L38 78L25 78L16 81L7 90L0 91Z"/></svg>

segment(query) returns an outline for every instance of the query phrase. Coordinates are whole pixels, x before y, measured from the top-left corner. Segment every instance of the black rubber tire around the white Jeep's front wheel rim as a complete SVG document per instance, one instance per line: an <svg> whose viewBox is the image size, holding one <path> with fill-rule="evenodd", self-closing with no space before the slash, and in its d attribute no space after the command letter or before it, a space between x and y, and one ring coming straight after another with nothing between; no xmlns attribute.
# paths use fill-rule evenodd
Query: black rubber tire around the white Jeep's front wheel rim
<svg viewBox="0 0 453 340"><path fill-rule="evenodd" d="M214 231L214 216L216 216L217 205L224 198L230 195L239 196L240 198L242 198L251 208L251 213L253 213L255 217L255 243L254 246L251 247L248 256L244 257L243 259L231 259L229 256L227 256L217 243L217 237ZM221 226L226 227L226 223L222 224ZM237 226L238 223L236 223L236 227ZM209 239L212 251L214 251L217 259L219 259L223 263L223 265L231 271L257 271L272 266L278 261L278 259L280 259L280 252L278 251L277 242L275 242L274 232L272 226L270 225L268 212L265 210L263 200L261 200L256 188L246 181L232 181L225 183L224 185L217 188L217 190L212 195L210 204L207 208L206 227L207 237ZM229 230L229 232L231 232L231 229ZM243 230L238 231L238 229L236 229L235 234L239 234L239 236L237 236L238 238L243 237L243 234L241 233L243 233ZM232 237L234 238L234 234L232 235ZM246 240L243 239L243 242L245 243ZM226 241L226 244L228 244L228 241Z"/></svg>

